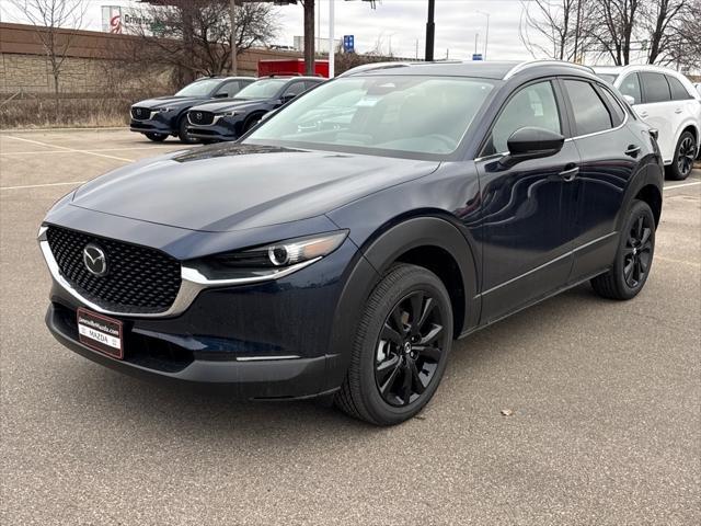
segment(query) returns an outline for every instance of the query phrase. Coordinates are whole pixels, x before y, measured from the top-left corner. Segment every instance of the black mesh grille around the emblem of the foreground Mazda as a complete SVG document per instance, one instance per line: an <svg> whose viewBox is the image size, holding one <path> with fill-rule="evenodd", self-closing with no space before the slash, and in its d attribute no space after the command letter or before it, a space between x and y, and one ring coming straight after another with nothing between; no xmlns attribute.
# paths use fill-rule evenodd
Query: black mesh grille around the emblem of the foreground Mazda
<svg viewBox="0 0 701 526"><path fill-rule="evenodd" d="M180 290L180 263L154 249L49 227L46 238L64 277L85 299L103 309L126 313L168 310ZM83 263L83 249L103 250L107 272L95 276Z"/></svg>

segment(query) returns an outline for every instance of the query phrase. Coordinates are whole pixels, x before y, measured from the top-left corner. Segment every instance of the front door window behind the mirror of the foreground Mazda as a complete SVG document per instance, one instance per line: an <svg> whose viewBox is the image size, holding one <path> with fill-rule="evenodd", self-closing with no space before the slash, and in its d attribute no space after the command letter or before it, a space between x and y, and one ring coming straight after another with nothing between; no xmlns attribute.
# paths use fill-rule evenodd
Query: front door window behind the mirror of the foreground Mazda
<svg viewBox="0 0 701 526"><path fill-rule="evenodd" d="M507 151L508 138L514 132L525 126L562 133L560 112L550 81L527 85L506 103L494 123L492 136L482 155L491 156Z"/></svg>

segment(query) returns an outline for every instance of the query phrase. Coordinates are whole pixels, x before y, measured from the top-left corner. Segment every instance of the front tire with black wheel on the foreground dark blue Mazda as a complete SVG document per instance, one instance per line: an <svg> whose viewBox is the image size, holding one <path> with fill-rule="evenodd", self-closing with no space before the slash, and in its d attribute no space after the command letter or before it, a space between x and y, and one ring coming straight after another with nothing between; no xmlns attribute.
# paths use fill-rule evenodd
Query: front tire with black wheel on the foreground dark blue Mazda
<svg viewBox="0 0 701 526"><path fill-rule="evenodd" d="M336 405L376 425L411 419L436 392L451 344L443 282L421 266L392 267L365 305Z"/></svg>

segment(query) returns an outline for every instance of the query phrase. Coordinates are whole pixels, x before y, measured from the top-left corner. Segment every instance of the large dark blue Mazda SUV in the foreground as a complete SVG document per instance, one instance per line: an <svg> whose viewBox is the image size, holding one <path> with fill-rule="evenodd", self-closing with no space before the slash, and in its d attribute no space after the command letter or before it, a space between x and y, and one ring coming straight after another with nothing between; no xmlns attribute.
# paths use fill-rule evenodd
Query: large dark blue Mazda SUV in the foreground
<svg viewBox="0 0 701 526"><path fill-rule="evenodd" d="M142 160L39 230L48 328L114 369L416 414L453 340L590 281L630 299L662 211L656 133L589 69L350 71L228 142Z"/></svg>

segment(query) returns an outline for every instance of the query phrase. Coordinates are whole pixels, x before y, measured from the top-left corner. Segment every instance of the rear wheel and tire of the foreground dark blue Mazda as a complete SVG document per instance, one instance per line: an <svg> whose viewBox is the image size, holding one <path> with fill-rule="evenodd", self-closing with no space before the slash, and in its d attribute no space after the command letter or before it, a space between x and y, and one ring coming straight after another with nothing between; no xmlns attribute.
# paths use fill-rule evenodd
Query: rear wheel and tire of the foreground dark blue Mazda
<svg viewBox="0 0 701 526"><path fill-rule="evenodd" d="M631 299L637 296L653 264L655 217L647 203L634 201L621 230L613 266L591 279L591 287L604 298Z"/></svg>

